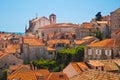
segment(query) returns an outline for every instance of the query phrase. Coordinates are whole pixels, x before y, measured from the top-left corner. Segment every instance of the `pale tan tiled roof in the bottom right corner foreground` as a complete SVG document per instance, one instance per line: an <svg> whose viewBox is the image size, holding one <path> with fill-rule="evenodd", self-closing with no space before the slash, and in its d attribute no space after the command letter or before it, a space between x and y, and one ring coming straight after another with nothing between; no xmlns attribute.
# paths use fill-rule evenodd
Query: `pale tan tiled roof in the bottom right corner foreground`
<svg viewBox="0 0 120 80"><path fill-rule="evenodd" d="M70 78L70 80L120 80L120 76L109 72L89 70Z"/></svg>

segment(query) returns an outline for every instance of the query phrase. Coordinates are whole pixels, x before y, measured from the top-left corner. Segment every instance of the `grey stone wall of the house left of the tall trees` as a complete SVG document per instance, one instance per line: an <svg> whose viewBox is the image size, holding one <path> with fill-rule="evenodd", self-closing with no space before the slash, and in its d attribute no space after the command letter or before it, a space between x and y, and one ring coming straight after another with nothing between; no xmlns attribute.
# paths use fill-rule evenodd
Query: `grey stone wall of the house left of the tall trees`
<svg viewBox="0 0 120 80"><path fill-rule="evenodd" d="M26 44L23 44L22 49L22 58L24 61L40 59L44 57L46 51L45 46L29 46Z"/></svg>

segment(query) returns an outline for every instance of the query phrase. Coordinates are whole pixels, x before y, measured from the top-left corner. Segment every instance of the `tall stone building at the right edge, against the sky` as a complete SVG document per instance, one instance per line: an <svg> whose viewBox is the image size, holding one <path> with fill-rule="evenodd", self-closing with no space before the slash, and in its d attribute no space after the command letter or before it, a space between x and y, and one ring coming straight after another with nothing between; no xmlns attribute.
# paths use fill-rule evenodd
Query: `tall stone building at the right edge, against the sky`
<svg viewBox="0 0 120 80"><path fill-rule="evenodd" d="M111 12L111 33L120 29L120 8L116 9L115 11Z"/></svg>

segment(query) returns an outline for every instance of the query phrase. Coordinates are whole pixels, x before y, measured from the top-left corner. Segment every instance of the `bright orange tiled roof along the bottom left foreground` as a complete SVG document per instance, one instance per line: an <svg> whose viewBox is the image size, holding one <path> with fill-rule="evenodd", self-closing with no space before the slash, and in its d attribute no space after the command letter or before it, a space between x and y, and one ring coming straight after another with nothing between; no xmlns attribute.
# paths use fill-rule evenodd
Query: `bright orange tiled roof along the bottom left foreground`
<svg viewBox="0 0 120 80"><path fill-rule="evenodd" d="M22 79L22 80L38 80L38 76L47 77L49 75L49 71L45 69L40 70L18 70L8 76L9 80L13 79Z"/></svg>

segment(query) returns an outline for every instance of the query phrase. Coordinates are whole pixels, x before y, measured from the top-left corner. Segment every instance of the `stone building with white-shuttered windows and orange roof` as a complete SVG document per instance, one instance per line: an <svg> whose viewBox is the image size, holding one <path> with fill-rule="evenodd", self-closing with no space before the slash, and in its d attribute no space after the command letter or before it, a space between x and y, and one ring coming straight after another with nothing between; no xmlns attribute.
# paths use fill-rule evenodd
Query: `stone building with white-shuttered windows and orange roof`
<svg viewBox="0 0 120 80"><path fill-rule="evenodd" d="M120 58L120 40L105 39L85 48L85 60L104 60Z"/></svg>

